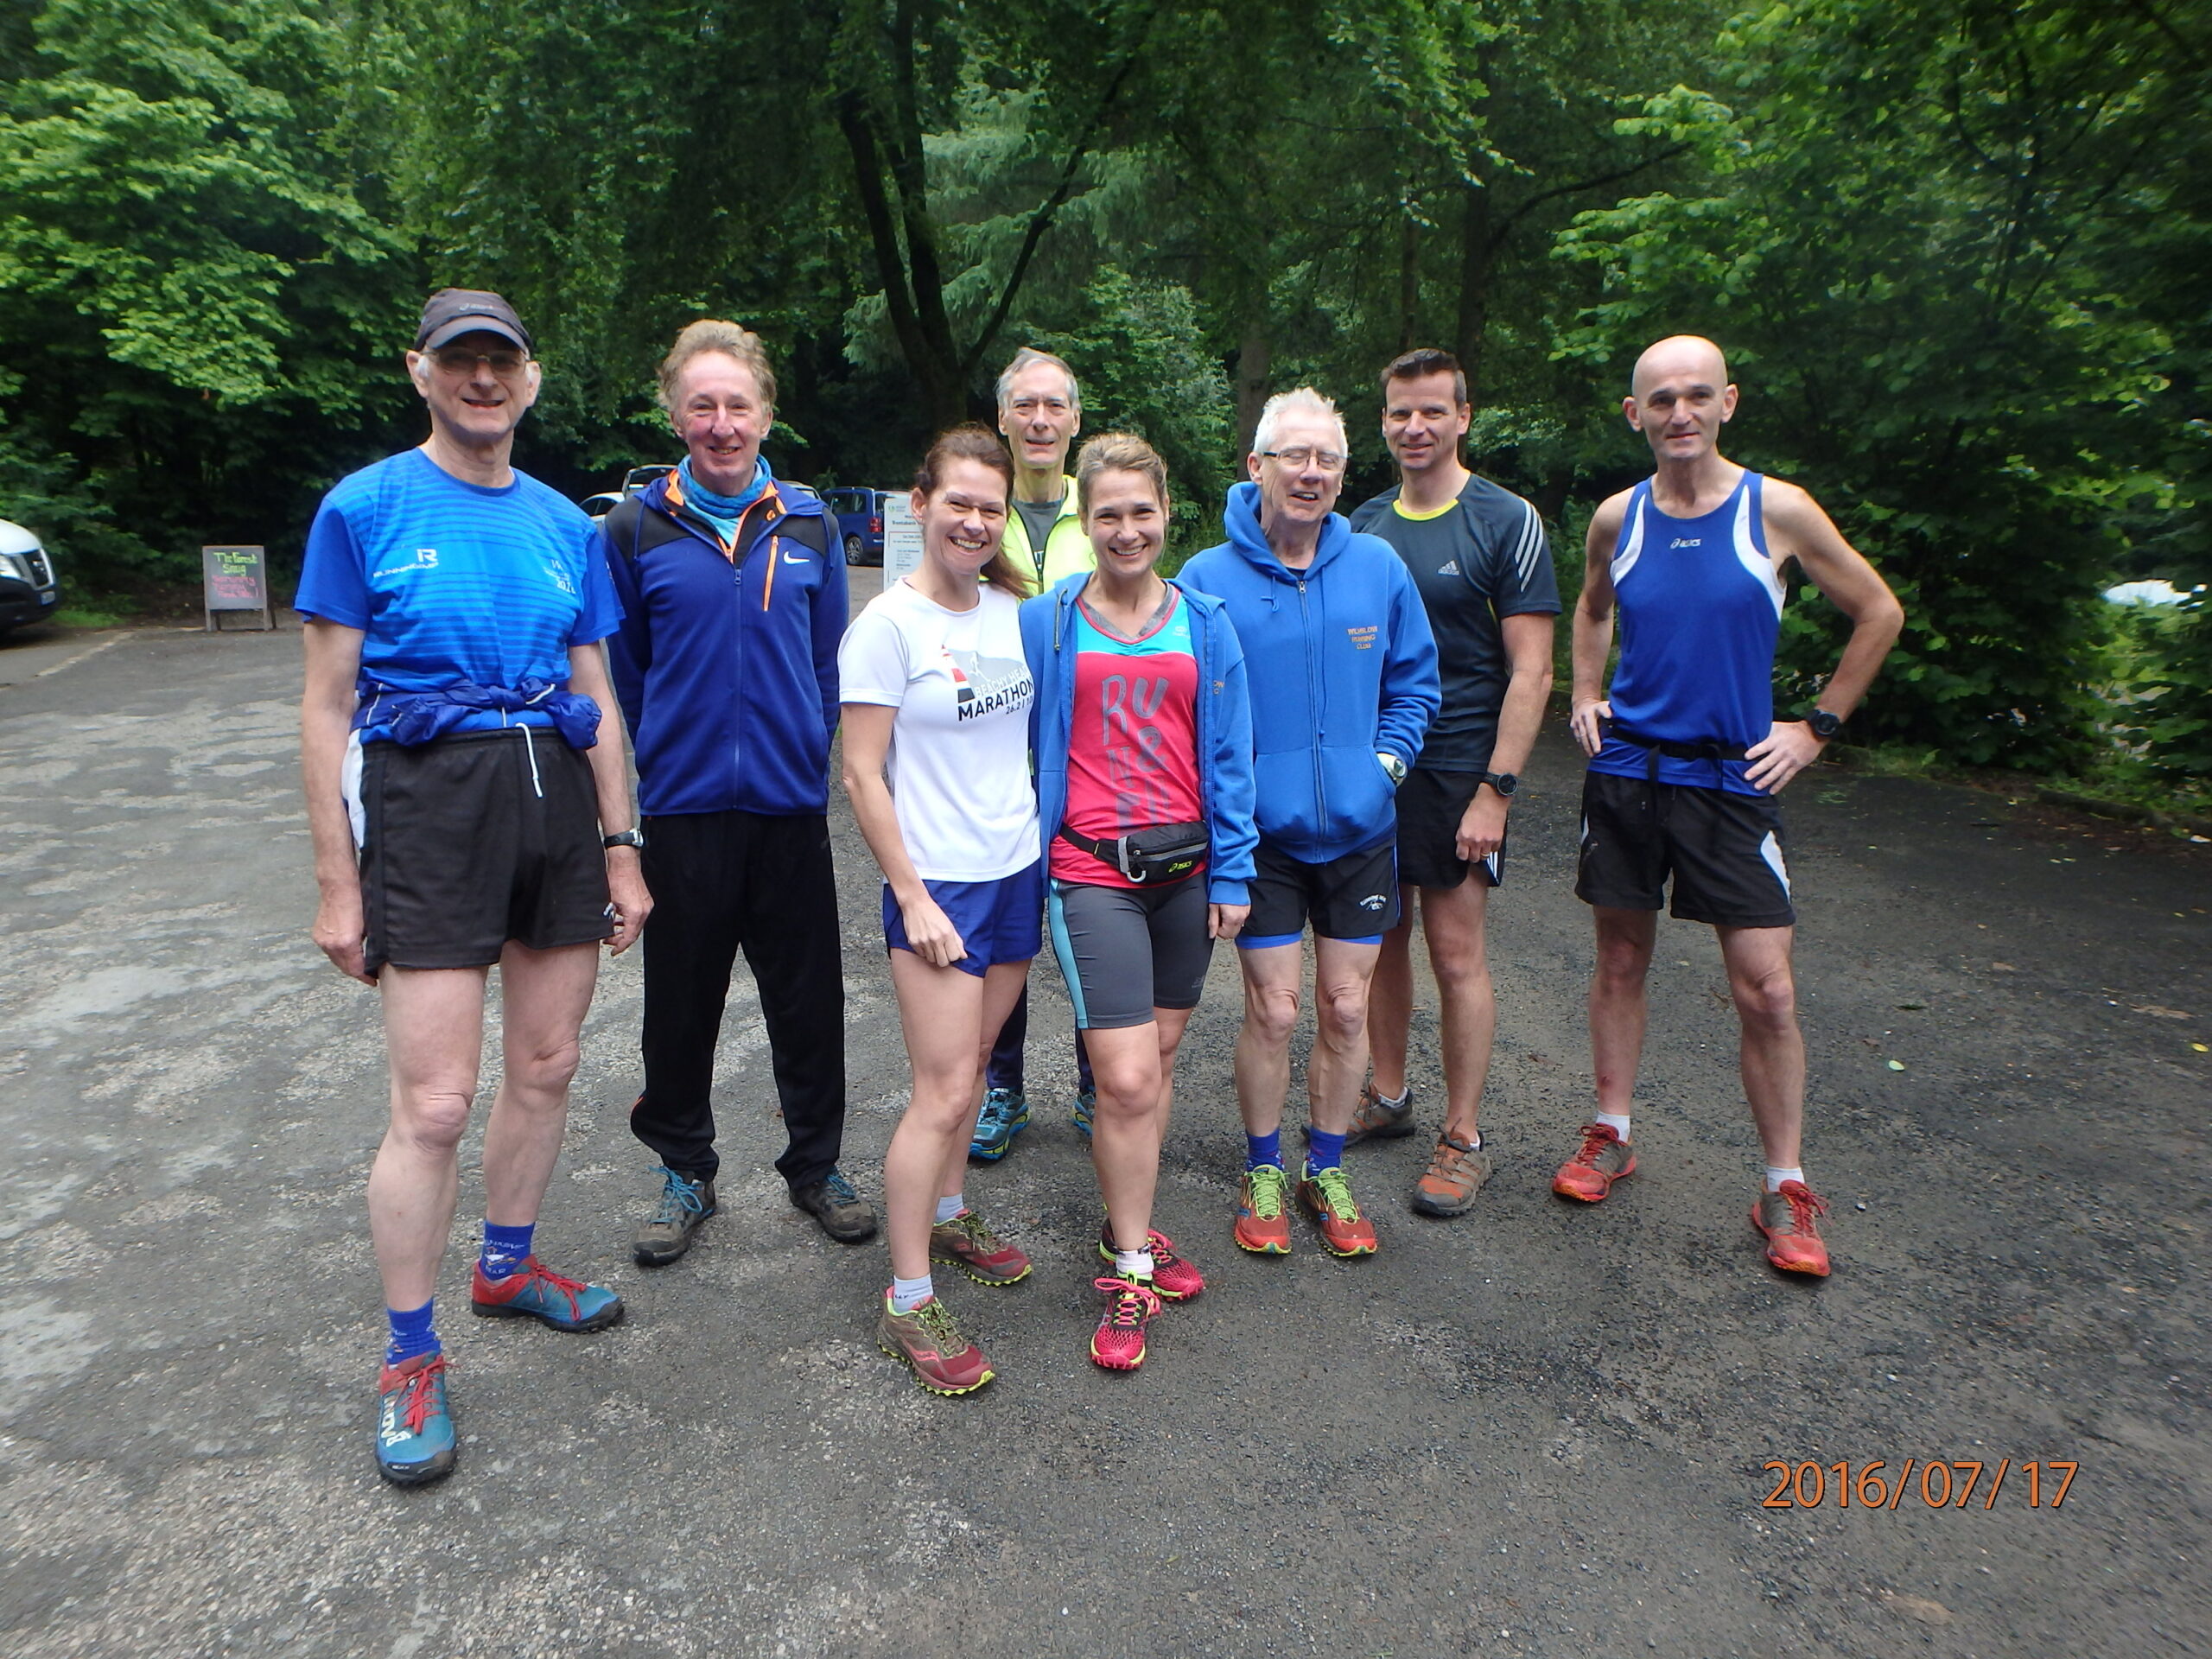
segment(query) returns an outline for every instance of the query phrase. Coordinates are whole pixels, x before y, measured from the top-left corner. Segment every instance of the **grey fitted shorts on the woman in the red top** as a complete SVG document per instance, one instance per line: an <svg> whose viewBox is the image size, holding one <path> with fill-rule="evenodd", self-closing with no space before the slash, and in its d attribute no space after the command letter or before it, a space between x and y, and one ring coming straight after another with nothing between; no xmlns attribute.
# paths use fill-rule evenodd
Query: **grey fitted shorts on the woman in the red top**
<svg viewBox="0 0 2212 1659"><path fill-rule="evenodd" d="M1152 1009L1199 1006L1214 956L1206 876L1172 887L1055 880L1044 914L1077 1031L1124 1031L1146 1024Z"/></svg>

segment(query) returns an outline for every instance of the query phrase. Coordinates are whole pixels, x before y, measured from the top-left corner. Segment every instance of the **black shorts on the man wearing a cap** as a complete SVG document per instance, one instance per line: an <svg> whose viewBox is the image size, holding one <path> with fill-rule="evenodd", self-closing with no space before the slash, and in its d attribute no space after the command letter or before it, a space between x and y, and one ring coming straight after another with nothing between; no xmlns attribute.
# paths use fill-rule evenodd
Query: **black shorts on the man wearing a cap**
<svg viewBox="0 0 2212 1659"><path fill-rule="evenodd" d="M361 750L367 967L489 967L615 931L591 761L557 732Z"/></svg>

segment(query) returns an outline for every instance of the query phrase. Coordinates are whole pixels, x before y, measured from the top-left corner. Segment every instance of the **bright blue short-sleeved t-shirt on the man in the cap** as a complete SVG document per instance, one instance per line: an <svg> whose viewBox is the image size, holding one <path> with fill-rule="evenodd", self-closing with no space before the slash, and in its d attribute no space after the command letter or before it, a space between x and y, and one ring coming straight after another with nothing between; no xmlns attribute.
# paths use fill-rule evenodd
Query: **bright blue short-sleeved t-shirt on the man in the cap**
<svg viewBox="0 0 2212 1659"><path fill-rule="evenodd" d="M332 487L307 531L292 608L363 630L354 730L365 743L392 734L378 721L378 686L566 684L568 646L622 622L575 502L520 471L502 489L469 484L420 449ZM538 710L476 710L456 730L551 723Z"/></svg>

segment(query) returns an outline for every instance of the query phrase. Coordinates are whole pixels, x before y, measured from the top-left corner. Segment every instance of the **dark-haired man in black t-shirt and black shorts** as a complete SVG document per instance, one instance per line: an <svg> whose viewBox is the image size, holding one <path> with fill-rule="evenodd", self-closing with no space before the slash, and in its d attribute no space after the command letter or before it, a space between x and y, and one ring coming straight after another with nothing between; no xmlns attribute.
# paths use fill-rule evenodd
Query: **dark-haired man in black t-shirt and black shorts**
<svg viewBox="0 0 2212 1659"><path fill-rule="evenodd" d="M1489 889L1504 880L1506 810L1551 695L1559 588L1535 507L1471 473L1460 442L1473 409L1449 352L1407 352L1383 369L1383 442L1398 484L1352 513L1420 588L1444 706L1398 790L1398 925L1376 964L1369 1048L1352 1141L1413 1133L1405 1075L1413 1018L1413 911L1420 911L1444 1031L1444 1124L1413 1210L1455 1217L1491 1175L1475 1113L1491 1068L1498 995L1484 953Z"/></svg>

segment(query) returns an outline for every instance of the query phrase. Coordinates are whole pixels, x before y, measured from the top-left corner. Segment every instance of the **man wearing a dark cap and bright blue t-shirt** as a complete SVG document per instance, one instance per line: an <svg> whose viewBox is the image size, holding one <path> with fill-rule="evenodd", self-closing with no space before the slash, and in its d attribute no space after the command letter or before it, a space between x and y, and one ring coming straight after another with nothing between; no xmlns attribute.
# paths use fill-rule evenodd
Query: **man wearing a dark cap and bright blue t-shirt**
<svg viewBox="0 0 2212 1659"><path fill-rule="evenodd" d="M389 1321L372 1436L378 1471L418 1486L456 1460L431 1296L493 964L504 1068L469 1305L557 1332L622 1318L613 1290L540 1263L533 1234L599 945L628 949L653 900L599 653L622 606L591 520L511 462L538 400L529 330L498 294L440 290L407 374L429 438L323 498L294 604L314 942L383 995L392 1064L367 1194Z"/></svg>

